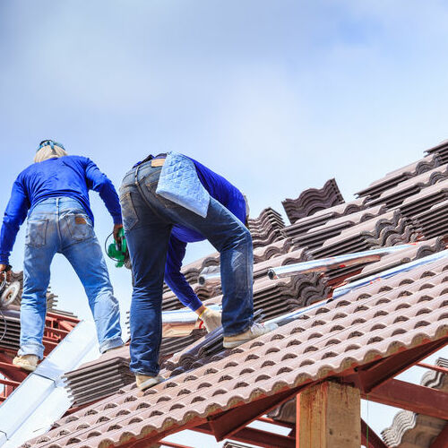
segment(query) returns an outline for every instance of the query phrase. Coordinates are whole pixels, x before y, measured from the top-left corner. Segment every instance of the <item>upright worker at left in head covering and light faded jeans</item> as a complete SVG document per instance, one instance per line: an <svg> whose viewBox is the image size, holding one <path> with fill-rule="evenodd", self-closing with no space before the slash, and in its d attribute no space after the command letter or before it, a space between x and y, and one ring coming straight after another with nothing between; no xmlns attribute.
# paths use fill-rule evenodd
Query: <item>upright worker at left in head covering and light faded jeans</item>
<svg viewBox="0 0 448 448"><path fill-rule="evenodd" d="M21 341L13 364L33 371L43 358L42 337L47 310L50 264L63 254L82 281L97 327L99 350L123 345L120 312L101 246L93 231L89 190L99 192L114 220L114 236L122 228L114 185L90 160L68 156L64 146L40 143L34 164L13 184L0 234L0 271L11 270L9 255L28 212L23 267Z"/></svg>

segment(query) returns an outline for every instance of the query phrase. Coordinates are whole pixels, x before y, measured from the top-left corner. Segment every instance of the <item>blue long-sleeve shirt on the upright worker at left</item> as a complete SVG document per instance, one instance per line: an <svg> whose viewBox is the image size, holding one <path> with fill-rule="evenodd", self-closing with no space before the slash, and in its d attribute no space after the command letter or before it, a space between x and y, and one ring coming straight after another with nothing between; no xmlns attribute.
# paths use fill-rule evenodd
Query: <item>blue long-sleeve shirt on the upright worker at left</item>
<svg viewBox="0 0 448 448"><path fill-rule="evenodd" d="M121 208L116 189L108 177L86 157L64 156L33 163L13 184L0 232L0 263L7 264L17 232L29 211L49 197L70 197L81 202L93 222L89 190L99 193L114 223L120 224Z"/></svg>

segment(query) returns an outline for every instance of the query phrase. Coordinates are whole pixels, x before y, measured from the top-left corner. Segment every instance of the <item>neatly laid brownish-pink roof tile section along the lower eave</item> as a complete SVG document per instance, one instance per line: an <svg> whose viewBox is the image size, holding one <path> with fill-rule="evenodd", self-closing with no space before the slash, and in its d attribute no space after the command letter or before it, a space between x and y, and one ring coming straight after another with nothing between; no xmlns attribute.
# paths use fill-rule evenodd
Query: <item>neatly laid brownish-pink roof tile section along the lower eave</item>
<svg viewBox="0 0 448 448"><path fill-rule="evenodd" d="M260 395L337 376L417 347L422 340L441 340L448 333L446 270L448 259L443 258L351 291L210 366L144 393L126 386L59 420L55 429L24 446L98 447L173 433L194 418Z"/></svg>

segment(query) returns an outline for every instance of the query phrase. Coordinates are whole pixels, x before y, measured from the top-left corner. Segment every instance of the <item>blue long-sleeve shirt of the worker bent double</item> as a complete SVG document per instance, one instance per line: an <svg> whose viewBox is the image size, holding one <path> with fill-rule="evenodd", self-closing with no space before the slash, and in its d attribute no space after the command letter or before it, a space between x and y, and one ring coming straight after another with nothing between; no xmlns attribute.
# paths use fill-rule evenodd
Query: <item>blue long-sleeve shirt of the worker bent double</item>
<svg viewBox="0 0 448 448"><path fill-rule="evenodd" d="M243 194L236 186L230 184L227 179L214 173L211 169L204 167L198 161L192 159L199 180L211 197L220 202L231 211L238 220L246 220L246 201ZM186 281L184 274L180 271L182 261L185 257L187 243L203 241L206 239L201 233L176 225L171 230L171 237L168 243L167 264L165 267L165 282L180 301L190 307L193 311L202 306L201 300L194 294L194 290Z"/></svg>

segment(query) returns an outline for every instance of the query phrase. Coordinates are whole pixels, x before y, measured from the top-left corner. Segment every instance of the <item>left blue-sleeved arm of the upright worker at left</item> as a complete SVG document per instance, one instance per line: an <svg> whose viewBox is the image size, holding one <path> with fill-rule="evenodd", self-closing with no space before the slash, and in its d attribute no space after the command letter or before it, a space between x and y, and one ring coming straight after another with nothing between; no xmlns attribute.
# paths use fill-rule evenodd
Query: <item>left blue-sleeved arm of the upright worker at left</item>
<svg viewBox="0 0 448 448"><path fill-rule="evenodd" d="M11 198L4 211L2 230L0 231L0 265L7 266L9 255L13 250L17 232L27 217L30 201L23 187L21 178L18 177L13 184ZM0 271L4 271L0 267Z"/></svg>

